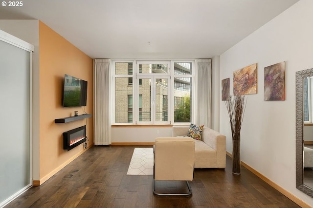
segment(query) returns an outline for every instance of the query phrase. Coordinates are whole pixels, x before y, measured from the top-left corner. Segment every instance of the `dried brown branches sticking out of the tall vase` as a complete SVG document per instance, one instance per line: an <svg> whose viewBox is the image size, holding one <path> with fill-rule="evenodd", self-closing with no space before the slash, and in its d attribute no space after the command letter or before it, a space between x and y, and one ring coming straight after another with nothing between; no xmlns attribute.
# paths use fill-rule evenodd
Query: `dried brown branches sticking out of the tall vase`
<svg viewBox="0 0 313 208"><path fill-rule="evenodd" d="M245 95L230 95L225 100L233 140L240 140L241 125L246 110Z"/></svg>

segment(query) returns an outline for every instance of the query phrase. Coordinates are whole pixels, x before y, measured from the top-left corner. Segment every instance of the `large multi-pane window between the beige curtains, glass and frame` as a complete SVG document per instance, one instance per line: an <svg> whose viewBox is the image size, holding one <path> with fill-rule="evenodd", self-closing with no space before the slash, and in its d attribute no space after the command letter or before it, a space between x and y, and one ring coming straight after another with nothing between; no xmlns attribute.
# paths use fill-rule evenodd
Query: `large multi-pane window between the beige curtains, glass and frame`
<svg viewBox="0 0 313 208"><path fill-rule="evenodd" d="M113 123L190 123L192 63L113 61Z"/></svg>

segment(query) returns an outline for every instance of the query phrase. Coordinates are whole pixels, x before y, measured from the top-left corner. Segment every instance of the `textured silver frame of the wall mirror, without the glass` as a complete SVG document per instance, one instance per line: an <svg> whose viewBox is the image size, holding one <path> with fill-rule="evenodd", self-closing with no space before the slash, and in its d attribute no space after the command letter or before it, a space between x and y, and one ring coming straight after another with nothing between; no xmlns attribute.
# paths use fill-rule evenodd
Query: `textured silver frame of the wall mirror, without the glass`
<svg viewBox="0 0 313 208"><path fill-rule="evenodd" d="M295 182L297 189L313 197L313 188L303 184L303 78L309 76L313 76L313 69L302 70L295 73Z"/></svg>

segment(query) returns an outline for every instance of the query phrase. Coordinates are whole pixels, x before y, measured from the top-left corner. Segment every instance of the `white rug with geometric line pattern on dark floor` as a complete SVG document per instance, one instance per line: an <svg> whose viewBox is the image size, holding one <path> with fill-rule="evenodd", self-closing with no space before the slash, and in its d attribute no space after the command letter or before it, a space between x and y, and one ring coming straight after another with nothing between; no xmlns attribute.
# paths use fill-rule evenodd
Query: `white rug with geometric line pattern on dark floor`
<svg viewBox="0 0 313 208"><path fill-rule="evenodd" d="M127 175L153 175L153 148L135 148Z"/></svg>

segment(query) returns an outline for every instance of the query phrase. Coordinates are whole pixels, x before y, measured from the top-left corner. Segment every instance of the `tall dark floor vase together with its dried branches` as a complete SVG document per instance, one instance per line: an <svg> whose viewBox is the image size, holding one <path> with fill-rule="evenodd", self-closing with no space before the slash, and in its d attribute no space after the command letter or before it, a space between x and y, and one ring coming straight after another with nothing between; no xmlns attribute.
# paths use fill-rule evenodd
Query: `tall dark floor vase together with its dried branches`
<svg viewBox="0 0 313 208"><path fill-rule="evenodd" d="M240 174L240 131L246 110L245 95L230 95L225 100L233 139L233 173Z"/></svg>

